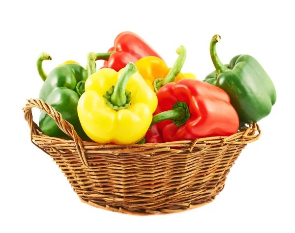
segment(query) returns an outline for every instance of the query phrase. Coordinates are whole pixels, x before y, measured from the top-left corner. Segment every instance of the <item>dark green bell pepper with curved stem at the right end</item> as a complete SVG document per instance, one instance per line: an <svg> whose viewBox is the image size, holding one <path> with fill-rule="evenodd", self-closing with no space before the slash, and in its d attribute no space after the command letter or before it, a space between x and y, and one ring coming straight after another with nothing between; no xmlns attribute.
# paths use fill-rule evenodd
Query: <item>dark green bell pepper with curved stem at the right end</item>
<svg viewBox="0 0 295 233"><path fill-rule="evenodd" d="M274 85L266 71L250 55L236 55L228 65L222 64L216 53L219 41L219 35L211 40L210 54L216 71L204 81L228 93L241 124L257 123L270 113L276 102Z"/></svg>

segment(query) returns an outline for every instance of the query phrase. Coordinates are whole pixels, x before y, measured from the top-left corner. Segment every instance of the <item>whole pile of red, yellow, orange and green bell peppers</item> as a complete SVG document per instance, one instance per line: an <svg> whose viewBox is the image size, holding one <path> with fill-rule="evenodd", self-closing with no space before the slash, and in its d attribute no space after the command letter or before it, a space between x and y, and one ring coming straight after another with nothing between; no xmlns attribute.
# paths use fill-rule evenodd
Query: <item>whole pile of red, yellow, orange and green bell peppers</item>
<svg viewBox="0 0 295 233"><path fill-rule="evenodd" d="M184 46L172 66L139 35L125 31L107 52L89 52L86 68L68 60L46 75L42 52L37 69L44 84L39 99L52 105L84 141L128 145L230 136L269 115L276 102L271 79L258 61L236 55L229 64L217 56L219 35L210 41L215 70L204 80L183 73ZM104 60L96 69L96 61ZM39 127L69 139L41 110Z"/></svg>

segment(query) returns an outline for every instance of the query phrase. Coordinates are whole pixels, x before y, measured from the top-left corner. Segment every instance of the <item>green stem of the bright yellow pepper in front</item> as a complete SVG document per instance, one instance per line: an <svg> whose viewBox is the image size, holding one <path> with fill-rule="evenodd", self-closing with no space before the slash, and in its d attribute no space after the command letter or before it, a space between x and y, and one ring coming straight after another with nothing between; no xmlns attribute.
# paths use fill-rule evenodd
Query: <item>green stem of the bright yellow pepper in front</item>
<svg viewBox="0 0 295 233"><path fill-rule="evenodd" d="M114 92L111 96L111 103L115 106L123 106L127 102L126 97L126 85L128 83L129 78L137 72L137 67L132 63L129 62L126 65L126 68L123 72L123 74L118 79L118 82L114 88Z"/></svg>

